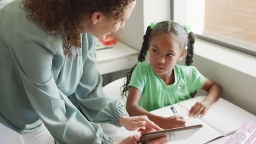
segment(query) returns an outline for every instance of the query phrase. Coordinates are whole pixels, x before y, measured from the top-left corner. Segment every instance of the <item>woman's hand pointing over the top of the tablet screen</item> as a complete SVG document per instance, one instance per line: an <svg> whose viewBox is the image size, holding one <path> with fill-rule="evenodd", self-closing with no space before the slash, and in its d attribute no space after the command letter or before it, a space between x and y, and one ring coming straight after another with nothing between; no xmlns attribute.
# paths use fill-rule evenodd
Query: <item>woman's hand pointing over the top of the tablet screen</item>
<svg viewBox="0 0 256 144"><path fill-rule="evenodd" d="M119 120L119 124L125 127L127 130L133 131L138 128L146 127L145 130L150 131L152 129L162 130L154 122L150 121L147 116L123 116Z"/></svg>

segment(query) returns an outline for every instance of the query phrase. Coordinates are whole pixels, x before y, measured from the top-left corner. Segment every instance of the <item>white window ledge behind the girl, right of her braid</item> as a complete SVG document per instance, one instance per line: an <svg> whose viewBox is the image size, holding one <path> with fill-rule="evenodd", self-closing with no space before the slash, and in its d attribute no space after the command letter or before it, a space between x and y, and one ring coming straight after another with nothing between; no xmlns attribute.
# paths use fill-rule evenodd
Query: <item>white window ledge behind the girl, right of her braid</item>
<svg viewBox="0 0 256 144"><path fill-rule="evenodd" d="M256 57L201 39L196 39L194 47L195 55L256 77Z"/></svg>

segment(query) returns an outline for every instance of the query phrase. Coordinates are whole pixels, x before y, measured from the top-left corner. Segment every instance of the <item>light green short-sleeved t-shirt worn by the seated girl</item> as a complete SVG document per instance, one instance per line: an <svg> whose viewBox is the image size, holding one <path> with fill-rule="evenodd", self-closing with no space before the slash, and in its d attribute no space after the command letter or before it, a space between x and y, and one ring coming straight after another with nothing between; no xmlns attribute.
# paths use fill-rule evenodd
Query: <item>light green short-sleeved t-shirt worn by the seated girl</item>
<svg viewBox="0 0 256 144"><path fill-rule="evenodd" d="M175 82L166 85L154 73L150 63L138 63L134 69L129 88L136 87L141 91L139 106L147 111L179 103L190 98L190 94L205 84L205 77L193 66L175 65Z"/></svg>

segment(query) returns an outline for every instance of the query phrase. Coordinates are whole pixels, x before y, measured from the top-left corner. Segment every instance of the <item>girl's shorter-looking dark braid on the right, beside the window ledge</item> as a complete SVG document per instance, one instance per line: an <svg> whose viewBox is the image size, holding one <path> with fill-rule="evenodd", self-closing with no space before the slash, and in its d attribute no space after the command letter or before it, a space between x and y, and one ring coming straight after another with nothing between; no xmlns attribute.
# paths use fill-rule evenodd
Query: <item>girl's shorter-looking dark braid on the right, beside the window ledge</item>
<svg viewBox="0 0 256 144"><path fill-rule="evenodd" d="M188 53L186 57L186 65L191 65L193 63L194 56L194 43L195 43L195 34L190 32L188 35Z"/></svg>

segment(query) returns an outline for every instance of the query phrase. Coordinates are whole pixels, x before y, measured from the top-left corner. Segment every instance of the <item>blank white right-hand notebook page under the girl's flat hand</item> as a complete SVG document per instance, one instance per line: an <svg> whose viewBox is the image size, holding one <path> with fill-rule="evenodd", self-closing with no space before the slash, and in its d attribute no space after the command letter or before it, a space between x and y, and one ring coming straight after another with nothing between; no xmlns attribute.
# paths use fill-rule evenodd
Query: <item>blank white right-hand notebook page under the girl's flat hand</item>
<svg viewBox="0 0 256 144"><path fill-rule="evenodd" d="M205 97L195 97L193 99L182 101L179 105L184 107L184 109L189 110L197 101L202 101L204 98ZM251 113L229 101L219 98L218 101L211 105L210 109L201 120L226 136L235 133L248 118L256 121L256 117Z"/></svg>

